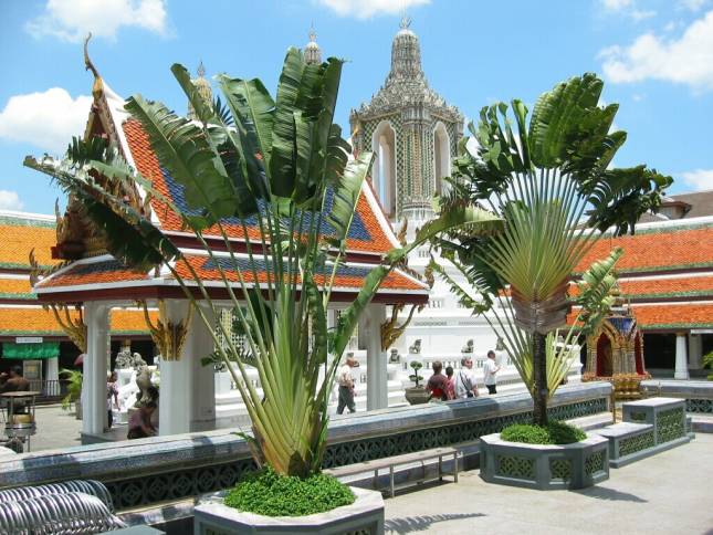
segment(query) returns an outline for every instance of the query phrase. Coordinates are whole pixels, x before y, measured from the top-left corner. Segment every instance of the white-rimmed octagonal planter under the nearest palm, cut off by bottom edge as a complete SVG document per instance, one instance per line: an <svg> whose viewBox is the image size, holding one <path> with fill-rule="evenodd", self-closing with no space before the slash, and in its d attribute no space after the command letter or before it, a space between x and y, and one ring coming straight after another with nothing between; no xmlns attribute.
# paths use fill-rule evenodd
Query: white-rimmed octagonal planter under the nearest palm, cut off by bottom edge
<svg viewBox="0 0 713 535"><path fill-rule="evenodd" d="M196 535L241 533L337 535L344 533L384 533L384 499L380 492L350 487L356 496L352 505L307 516L262 516L223 505L227 491L206 494L193 510Z"/></svg>

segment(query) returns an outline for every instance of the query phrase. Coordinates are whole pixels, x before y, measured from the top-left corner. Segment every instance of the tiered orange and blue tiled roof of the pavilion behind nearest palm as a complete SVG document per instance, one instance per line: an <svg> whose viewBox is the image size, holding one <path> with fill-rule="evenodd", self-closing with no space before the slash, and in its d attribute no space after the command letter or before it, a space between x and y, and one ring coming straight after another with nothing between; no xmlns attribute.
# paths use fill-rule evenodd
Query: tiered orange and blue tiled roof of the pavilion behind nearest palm
<svg viewBox="0 0 713 535"><path fill-rule="evenodd" d="M95 94L94 97L95 106L91 112L87 133L108 136L118 145L128 164L145 178L151 180L157 191L182 210L188 210L184 186L174 180L170 174L159 165L156 153L140 123L133 119L124 109L125 101L114 93L106 82L102 83L102 93ZM187 261L197 269L201 279L206 281L206 285L212 289L211 292L216 295L221 290L224 292L224 289L220 287L222 283L220 283L219 271L214 265L211 265L212 261L200 242L192 233L186 231L180 219L161 200L154 197L150 202L154 223L181 249ZM326 204L328 210L329 198L327 198ZM222 223L229 239L235 242L231 246L238 251L241 250L240 243L244 250L245 240L259 239L256 220L247 221L247 237L242 224L237 219L229 218ZM323 224L327 225L327 223ZM324 233L328 234L329 230L327 225ZM216 249L224 249L218 229L207 229L203 231L203 238L208 242L212 241ZM394 246L399 246L399 242L374 190L369 182L365 181L347 235L346 262L337 270L333 291L334 298L344 301L347 298L347 294L356 294L364 285L369 271L378 265L384 254ZM227 260L220 262L226 263ZM180 261L177 268L181 275L189 275L187 268L181 265ZM226 264L224 268L231 272L230 265ZM264 265L258 266L258 281L253 281L252 273L250 270L245 270L244 265L241 265L241 269L243 269L249 284L261 285L266 282L268 273ZM229 279L237 281L234 271L229 275ZM315 281L321 284L324 282L324 275L316 274ZM195 283L192 284L195 285ZM234 284L238 285L237 282ZM123 265L108 254L76 260L45 277L34 286L34 290L40 301L43 302L82 302L115 297L184 297L178 282L170 276L170 272L167 270L161 273L156 273L156 270L138 272ZM376 296L377 302L384 303L422 303L427 300L428 286L400 270L395 270L387 276Z"/></svg>

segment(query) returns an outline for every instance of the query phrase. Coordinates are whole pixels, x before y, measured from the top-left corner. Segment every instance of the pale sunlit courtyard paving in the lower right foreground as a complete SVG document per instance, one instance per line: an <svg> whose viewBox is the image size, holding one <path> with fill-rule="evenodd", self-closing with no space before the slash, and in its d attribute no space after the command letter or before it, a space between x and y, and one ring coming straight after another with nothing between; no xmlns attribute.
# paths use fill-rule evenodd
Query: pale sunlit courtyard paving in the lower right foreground
<svg viewBox="0 0 713 535"><path fill-rule="evenodd" d="M585 491L484 483L478 471L386 500L387 533L713 534L713 436L618 470Z"/></svg>

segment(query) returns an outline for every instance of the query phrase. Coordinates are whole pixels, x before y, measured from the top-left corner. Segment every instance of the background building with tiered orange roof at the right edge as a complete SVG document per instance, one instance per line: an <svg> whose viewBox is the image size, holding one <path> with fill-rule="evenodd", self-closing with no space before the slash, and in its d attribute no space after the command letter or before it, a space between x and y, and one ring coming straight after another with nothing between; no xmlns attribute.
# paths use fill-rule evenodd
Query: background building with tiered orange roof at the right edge
<svg viewBox="0 0 713 535"><path fill-rule="evenodd" d="M577 270L614 246L623 249L619 286L643 332L646 367L654 377L703 376L702 355L713 350L713 206L706 192L700 196L696 207L696 193L686 195L685 210L677 199L664 202L663 212L681 219L649 217L635 235L606 234ZM702 216L685 217L692 212Z"/></svg>

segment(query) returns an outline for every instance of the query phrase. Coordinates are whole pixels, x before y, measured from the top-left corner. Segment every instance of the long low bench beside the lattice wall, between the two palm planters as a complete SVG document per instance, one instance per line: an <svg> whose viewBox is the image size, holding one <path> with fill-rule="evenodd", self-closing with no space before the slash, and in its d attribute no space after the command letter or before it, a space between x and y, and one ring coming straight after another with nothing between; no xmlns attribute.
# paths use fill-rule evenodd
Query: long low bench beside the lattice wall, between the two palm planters
<svg viewBox="0 0 713 535"><path fill-rule="evenodd" d="M443 458L453 458L453 470L452 472L443 472ZM426 461L438 459L438 474L433 478L429 476L426 471ZM346 466L339 466L335 469L325 470L325 473L333 475L335 478L348 478L350 475L357 475L364 472L374 471L374 484L376 486L379 479L379 470L389 469L389 492L391 497L395 495L396 486L394 483L394 469L396 466L405 464L421 463L423 465L423 473L421 478L418 478L417 482L429 481L431 479L438 478L439 480L443 479L443 475L448 473L453 476L453 482L458 483L458 450L455 448L434 448L432 450L417 451L415 453L406 453L403 455L387 457L384 459L377 459L374 461L360 462L357 464L348 464Z"/></svg>

